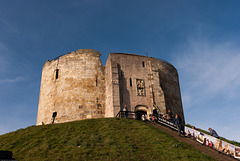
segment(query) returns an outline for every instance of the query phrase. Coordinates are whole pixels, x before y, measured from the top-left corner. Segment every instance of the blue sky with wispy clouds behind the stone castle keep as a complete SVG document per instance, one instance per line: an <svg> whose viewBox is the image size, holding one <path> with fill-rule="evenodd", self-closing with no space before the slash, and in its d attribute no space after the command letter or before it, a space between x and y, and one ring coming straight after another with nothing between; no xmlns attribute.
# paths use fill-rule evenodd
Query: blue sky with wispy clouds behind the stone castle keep
<svg viewBox="0 0 240 161"><path fill-rule="evenodd" d="M240 141L239 0L0 0L0 134L35 125L41 70L76 51L158 57L186 123Z"/></svg>

